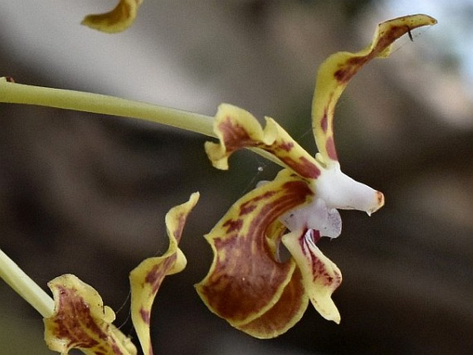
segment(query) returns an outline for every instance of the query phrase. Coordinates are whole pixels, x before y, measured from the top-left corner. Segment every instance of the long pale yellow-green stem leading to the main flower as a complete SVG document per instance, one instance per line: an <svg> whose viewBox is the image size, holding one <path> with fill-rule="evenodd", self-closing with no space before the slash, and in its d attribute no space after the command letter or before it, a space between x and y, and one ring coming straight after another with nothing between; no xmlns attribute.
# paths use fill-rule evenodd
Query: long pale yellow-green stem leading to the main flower
<svg viewBox="0 0 473 355"><path fill-rule="evenodd" d="M17 84L0 78L0 102L63 108L104 115L144 119L195 133L216 137L213 117L119 97L82 91ZM276 157L258 148L251 151L284 167Z"/></svg>

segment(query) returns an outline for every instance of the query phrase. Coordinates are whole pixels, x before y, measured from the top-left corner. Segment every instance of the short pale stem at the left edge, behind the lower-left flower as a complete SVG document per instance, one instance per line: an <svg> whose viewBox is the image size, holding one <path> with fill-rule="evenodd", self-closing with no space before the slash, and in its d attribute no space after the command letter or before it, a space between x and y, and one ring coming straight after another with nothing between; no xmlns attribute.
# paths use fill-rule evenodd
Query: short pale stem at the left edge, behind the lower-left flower
<svg viewBox="0 0 473 355"><path fill-rule="evenodd" d="M55 303L30 276L26 275L6 253L0 249L0 277L12 287L17 294L34 307L41 316L49 318L54 312Z"/></svg>

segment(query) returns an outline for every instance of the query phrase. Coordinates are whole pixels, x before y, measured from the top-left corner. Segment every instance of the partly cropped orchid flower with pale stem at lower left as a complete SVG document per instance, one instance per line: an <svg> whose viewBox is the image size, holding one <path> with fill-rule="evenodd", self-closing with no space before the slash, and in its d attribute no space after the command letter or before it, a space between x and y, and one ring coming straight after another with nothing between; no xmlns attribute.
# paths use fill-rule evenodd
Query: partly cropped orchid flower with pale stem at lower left
<svg viewBox="0 0 473 355"><path fill-rule="evenodd" d="M150 337L151 306L166 275L186 267L177 247L186 219L199 193L166 214L169 247L162 256L148 258L130 274L131 319L143 353L153 354ZM48 347L61 354L80 349L84 354L133 355L137 349L115 325L114 311L104 306L99 293L74 275L65 274L48 282L54 300L0 250L0 276L44 317Z"/></svg>

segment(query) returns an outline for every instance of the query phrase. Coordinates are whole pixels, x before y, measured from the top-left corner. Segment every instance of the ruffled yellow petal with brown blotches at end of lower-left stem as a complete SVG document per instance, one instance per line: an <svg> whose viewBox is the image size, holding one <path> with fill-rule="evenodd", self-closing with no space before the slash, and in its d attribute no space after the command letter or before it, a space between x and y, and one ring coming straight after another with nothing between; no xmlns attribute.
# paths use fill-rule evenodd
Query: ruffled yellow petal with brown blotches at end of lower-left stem
<svg viewBox="0 0 473 355"><path fill-rule="evenodd" d="M48 282L55 311L44 318L44 338L55 352L68 354L81 349L86 354L137 354L131 340L111 323L113 310L104 306L98 292L74 275L66 274Z"/></svg>

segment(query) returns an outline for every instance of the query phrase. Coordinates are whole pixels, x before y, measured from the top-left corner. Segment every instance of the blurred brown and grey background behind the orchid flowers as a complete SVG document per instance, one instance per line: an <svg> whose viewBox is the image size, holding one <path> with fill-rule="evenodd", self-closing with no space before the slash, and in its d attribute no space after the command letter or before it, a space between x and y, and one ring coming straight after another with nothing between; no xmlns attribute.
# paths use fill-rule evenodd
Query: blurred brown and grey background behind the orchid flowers
<svg viewBox="0 0 473 355"><path fill-rule="evenodd" d="M122 34L79 26L113 6L3 2L0 75L208 115L229 102L275 118L311 153L320 62L363 48L385 19L438 19L364 68L338 105L342 169L386 198L371 218L342 212L342 236L319 244L342 270L342 323L309 306L287 334L255 340L204 307L193 289L211 263L202 236L278 167L241 152L217 171L205 137L157 124L0 104L3 251L45 289L73 273L124 305L128 333L128 272L166 250L164 214L200 191L181 243L188 266L153 309L156 354L473 354L472 1L145 0ZM52 354L42 333L0 282L0 354Z"/></svg>

